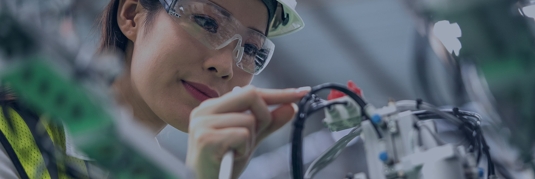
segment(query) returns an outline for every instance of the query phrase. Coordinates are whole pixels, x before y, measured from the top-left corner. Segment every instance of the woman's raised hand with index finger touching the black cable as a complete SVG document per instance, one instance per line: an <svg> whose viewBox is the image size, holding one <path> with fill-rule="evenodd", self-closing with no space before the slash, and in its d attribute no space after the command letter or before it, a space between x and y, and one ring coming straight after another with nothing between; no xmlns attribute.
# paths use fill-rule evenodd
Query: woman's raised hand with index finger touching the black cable
<svg viewBox="0 0 535 179"><path fill-rule="evenodd" d="M190 115L186 165L199 179L217 178L221 158L234 150L232 173L237 178L260 141L292 119L297 111L293 102L309 91L249 85L203 101ZM270 111L269 105L280 106Z"/></svg>

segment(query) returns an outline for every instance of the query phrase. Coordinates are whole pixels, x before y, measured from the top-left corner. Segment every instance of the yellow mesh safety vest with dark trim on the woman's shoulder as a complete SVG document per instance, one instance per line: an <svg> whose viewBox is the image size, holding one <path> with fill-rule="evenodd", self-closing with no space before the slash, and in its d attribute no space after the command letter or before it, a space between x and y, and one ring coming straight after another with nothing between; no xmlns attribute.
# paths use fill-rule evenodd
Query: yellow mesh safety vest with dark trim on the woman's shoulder
<svg viewBox="0 0 535 179"><path fill-rule="evenodd" d="M66 166L82 175L76 176L77 178L90 179L88 161L66 155L65 132L61 124L39 120L39 116L16 104L5 108L0 107L0 143L21 179L73 178L67 174ZM48 135L43 129L46 129ZM36 143L36 139L41 143ZM50 150L51 145L55 146L56 152L47 152L54 151ZM45 147L49 147L48 150Z"/></svg>

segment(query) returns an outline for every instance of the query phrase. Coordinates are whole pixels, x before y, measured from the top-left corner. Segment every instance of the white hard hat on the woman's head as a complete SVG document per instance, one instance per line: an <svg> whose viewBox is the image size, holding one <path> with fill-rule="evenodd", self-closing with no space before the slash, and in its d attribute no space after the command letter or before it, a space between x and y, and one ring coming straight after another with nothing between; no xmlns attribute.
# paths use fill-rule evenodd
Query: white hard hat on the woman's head
<svg viewBox="0 0 535 179"><path fill-rule="evenodd" d="M290 34L304 27L303 19L295 11L295 0L277 0L277 10L269 24L268 38Z"/></svg>

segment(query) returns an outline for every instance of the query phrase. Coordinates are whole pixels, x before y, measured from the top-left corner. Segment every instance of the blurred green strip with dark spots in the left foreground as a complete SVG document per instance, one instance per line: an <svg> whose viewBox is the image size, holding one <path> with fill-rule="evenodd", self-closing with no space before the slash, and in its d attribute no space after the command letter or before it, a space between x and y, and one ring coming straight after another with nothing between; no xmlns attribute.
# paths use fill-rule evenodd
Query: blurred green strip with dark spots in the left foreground
<svg viewBox="0 0 535 179"><path fill-rule="evenodd" d="M2 85L53 122L68 126L75 145L112 178L180 178L155 165L117 135L112 115L91 98L80 84L55 71L39 57L28 59L0 74Z"/></svg>

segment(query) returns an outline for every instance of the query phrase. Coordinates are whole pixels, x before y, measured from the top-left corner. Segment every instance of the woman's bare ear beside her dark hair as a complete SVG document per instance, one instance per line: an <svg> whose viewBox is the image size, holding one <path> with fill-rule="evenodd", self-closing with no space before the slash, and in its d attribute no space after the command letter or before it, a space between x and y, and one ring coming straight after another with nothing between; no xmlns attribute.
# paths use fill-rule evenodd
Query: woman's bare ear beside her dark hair
<svg viewBox="0 0 535 179"><path fill-rule="evenodd" d="M117 24L126 38L135 42L139 33L141 6L139 0L120 0L117 8Z"/></svg>

